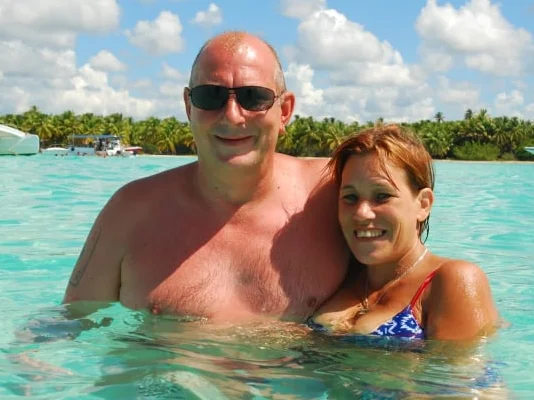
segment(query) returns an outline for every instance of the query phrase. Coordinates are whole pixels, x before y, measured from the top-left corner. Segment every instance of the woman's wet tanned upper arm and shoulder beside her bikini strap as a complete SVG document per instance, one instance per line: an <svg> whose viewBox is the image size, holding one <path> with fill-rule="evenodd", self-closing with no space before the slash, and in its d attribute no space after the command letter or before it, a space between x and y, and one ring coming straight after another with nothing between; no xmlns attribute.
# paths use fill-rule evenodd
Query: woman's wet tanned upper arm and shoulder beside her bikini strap
<svg viewBox="0 0 534 400"><path fill-rule="evenodd" d="M466 261L451 260L440 267L427 299L429 338L467 340L490 333L498 312L484 272Z"/></svg>

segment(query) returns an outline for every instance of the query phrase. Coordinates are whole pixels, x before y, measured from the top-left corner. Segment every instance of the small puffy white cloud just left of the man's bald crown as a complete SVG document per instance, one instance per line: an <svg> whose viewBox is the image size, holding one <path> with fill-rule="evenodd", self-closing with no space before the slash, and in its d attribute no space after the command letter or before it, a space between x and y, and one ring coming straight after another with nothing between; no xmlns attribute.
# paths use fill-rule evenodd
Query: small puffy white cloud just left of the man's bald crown
<svg viewBox="0 0 534 400"><path fill-rule="evenodd" d="M133 31L125 34L130 43L153 55L179 53L184 49L180 17L162 11L154 21L139 21Z"/></svg>

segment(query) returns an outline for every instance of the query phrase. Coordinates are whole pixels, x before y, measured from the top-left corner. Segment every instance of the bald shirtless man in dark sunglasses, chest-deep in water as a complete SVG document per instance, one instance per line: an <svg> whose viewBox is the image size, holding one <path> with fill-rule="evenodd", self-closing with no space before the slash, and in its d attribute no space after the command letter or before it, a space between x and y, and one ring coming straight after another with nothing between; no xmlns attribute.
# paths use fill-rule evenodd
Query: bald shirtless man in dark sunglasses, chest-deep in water
<svg viewBox="0 0 534 400"><path fill-rule="evenodd" d="M276 53L247 33L219 35L183 96L198 162L110 199L64 301L302 321L340 286L348 252L325 161L275 153L295 104Z"/></svg>

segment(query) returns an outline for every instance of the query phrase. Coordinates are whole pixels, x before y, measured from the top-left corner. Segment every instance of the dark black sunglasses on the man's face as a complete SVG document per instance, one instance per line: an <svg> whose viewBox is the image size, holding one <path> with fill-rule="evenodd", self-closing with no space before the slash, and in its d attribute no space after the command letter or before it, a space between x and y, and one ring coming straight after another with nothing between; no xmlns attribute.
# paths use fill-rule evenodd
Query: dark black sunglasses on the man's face
<svg viewBox="0 0 534 400"><path fill-rule="evenodd" d="M219 85L200 85L189 90L191 102L202 110L219 110L224 107L230 93L235 93L237 102L248 111L265 111L271 108L278 96L262 86L241 86L229 88Z"/></svg>

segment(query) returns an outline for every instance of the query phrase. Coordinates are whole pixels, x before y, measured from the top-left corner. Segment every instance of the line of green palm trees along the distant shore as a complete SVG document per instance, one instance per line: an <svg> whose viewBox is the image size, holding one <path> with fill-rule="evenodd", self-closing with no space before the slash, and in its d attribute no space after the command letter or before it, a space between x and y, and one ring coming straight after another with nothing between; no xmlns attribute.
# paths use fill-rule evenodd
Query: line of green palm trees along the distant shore
<svg viewBox="0 0 534 400"><path fill-rule="evenodd" d="M39 136L43 148L68 146L74 134L117 135L122 142L141 146L147 154L195 154L195 142L188 122L175 117L149 117L134 120L120 113L95 115L45 114L35 106L21 114L0 116L0 123ZM348 136L385 124L383 118L367 123L344 123L335 118L316 120L295 115L280 136L278 151L294 156L325 157ZM435 159L455 160L530 160L534 155L524 147L534 146L534 124L518 117L491 117L487 110L468 109L461 120L447 121L442 112L432 120L403 122L425 143Z"/></svg>

